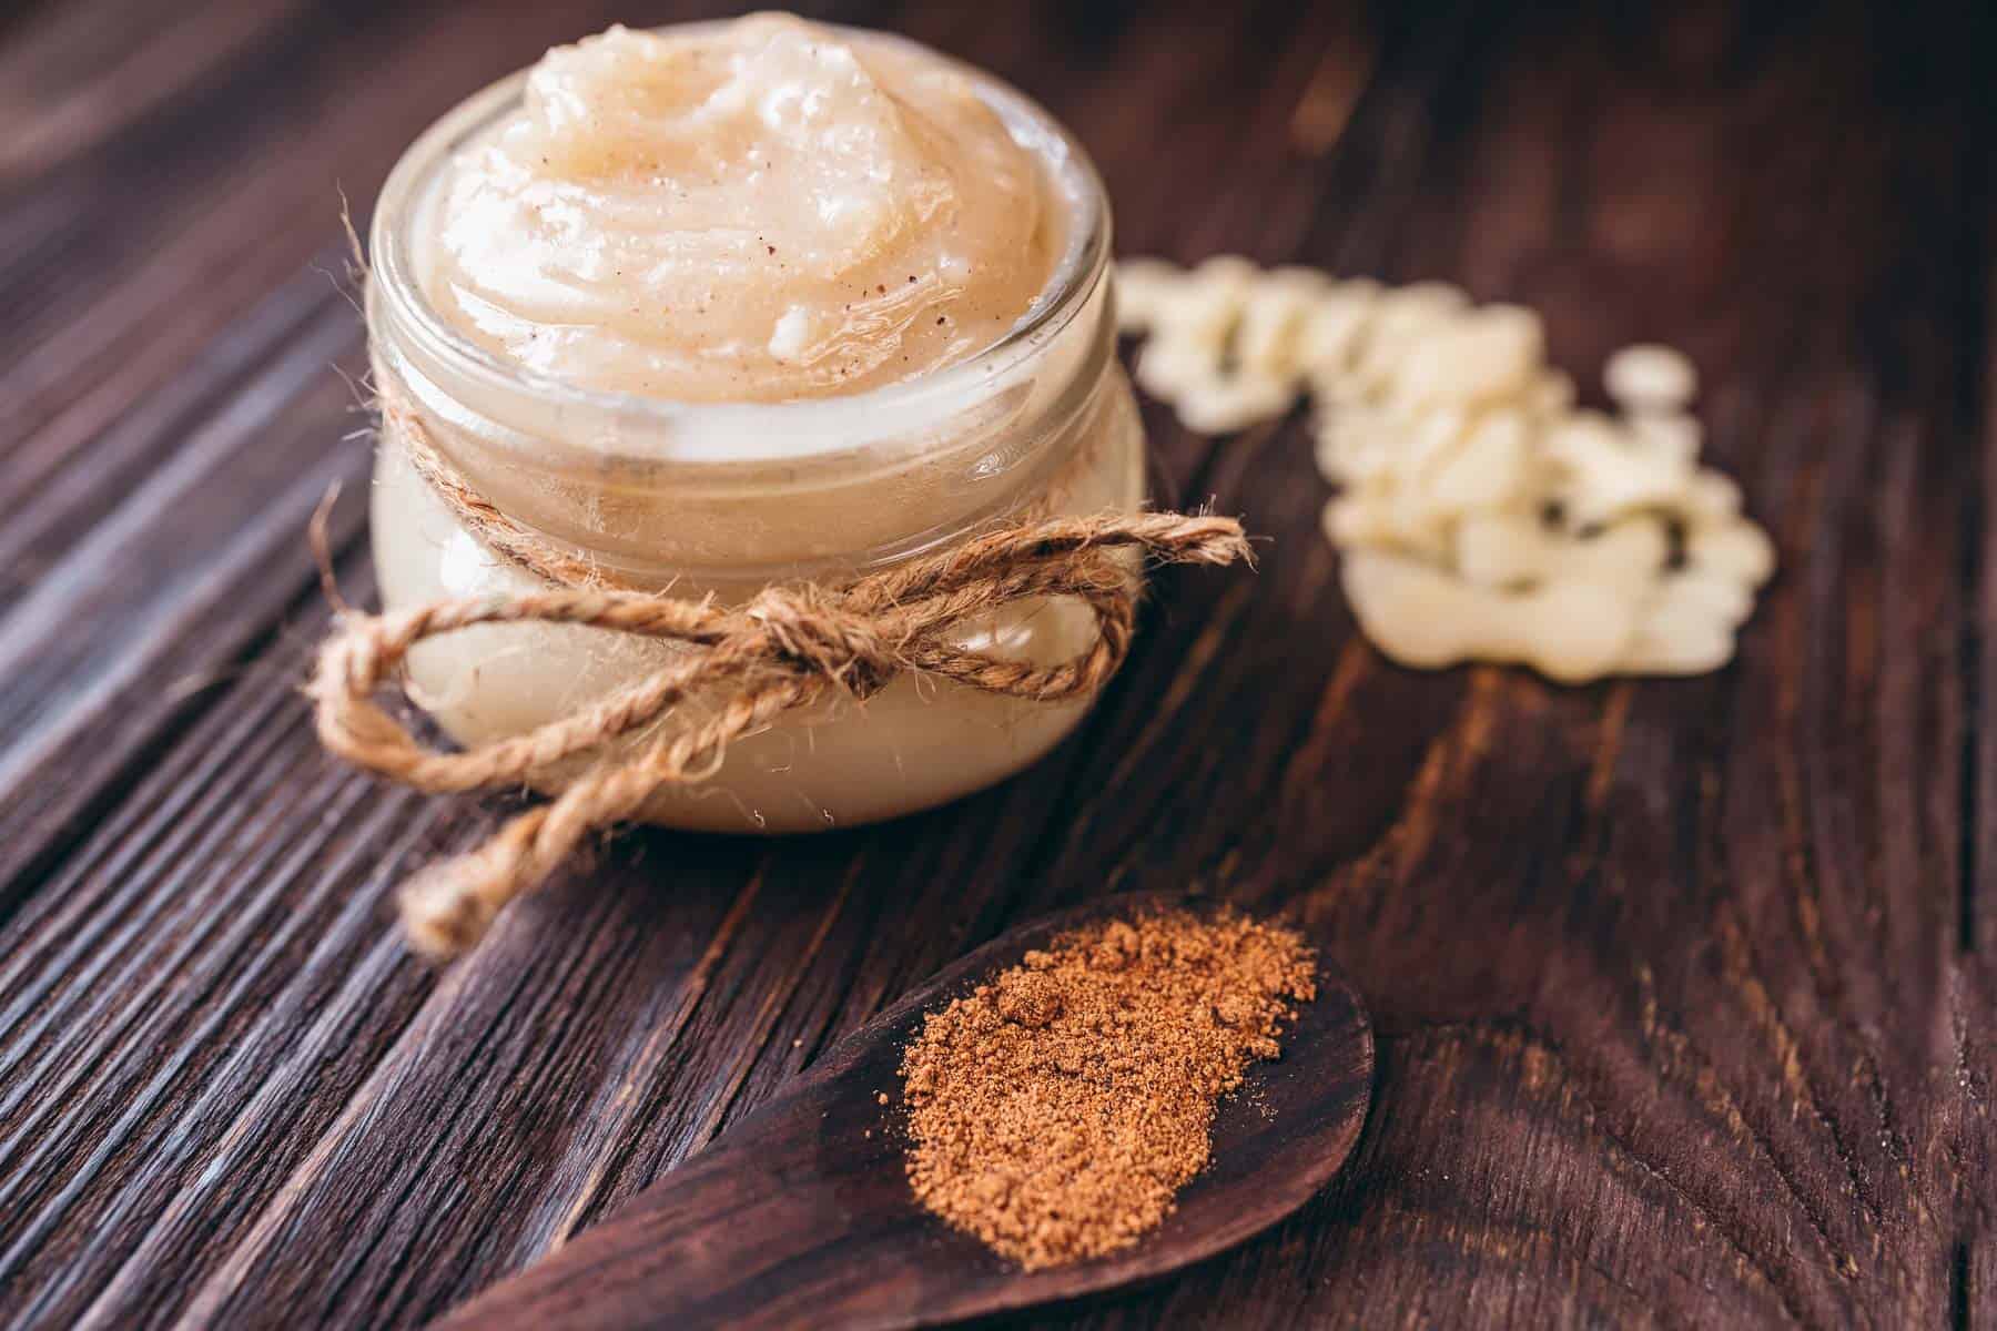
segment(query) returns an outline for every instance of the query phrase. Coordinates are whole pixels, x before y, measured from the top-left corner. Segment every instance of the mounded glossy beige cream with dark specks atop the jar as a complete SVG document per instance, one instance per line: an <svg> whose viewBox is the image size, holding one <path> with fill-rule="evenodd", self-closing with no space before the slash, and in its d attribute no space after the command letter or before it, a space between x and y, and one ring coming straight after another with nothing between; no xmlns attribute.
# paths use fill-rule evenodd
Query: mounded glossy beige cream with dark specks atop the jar
<svg viewBox="0 0 1997 1331"><path fill-rule="evenodd" d="M421 279L459 331L569 383L823 397L998 341L1062 214L941 56L781 14L611 28L547 52L457 152Z"/></svg>

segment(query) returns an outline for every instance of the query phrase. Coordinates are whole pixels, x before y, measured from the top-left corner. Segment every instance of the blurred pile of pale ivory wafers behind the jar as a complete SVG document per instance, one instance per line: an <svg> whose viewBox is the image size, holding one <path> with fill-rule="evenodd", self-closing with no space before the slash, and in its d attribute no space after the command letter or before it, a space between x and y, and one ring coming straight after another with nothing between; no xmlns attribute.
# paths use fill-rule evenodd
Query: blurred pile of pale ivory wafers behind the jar
<svg viewBox="0 0 1997 1331"><path fill-rule="evenodd" d="M1620 415L1574 405L1540 315L1444 283L1382 287L1218 257L1116 269L1136 379L1226 433L1316 401L1324 531L1346 599L1412 666L1520 663L1580 682L1703 674L1775 571L1727 477L1699 465L1691 363L1610 357Z"/></svg>

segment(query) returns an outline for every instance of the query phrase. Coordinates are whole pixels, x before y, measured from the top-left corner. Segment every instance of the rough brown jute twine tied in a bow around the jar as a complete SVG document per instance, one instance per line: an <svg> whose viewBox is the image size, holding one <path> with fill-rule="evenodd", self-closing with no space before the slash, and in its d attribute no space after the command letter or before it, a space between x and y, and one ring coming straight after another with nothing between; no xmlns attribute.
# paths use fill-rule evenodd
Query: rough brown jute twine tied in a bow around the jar
<svg viewBox="0 0 1997 1331"><path fill-rule="evenodd" d="M437 958L477 942L507 902L541 884L591 832L631 818L663 786L713 776L729 742L783 712L833 692L867 698L905 670L1034 702L1090 694L1122 665L1136 619L1136 581L1116 551L1136 549L1158 563L1248 559L1234 519L1106 513L995 527L843 587L777 585L737 607L711 597L687 601L607 585L593 565L475 495L405 411L389 405L383 417L453 515L551 587L431 601L391 615L343 613L308 684L320 740L349 762L431 792L519 788L559 760L597 754L551 802L403 884L409 942ZM1086 605L1094 643L1060 665L1032 666L951 641L967 619L1032 597ZM611 629L681 651L651 676L571 716L465 752L425 748L375 702L423 639L527 621ZM615 738L643 730L695 692L717 698L697 724L635 752L609 750Z"/></svg>

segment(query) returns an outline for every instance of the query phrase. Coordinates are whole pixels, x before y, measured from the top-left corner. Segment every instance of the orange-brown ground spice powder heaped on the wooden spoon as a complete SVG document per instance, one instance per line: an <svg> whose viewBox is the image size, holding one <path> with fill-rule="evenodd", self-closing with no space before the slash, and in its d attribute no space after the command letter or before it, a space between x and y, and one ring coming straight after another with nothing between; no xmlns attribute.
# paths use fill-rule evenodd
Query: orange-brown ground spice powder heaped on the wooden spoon
<svg viewBox="0 0 1997 1331"><path fill-rule="evenodd" d="M929 1014L903 1056L917 1199L1028 1271L1126 1247L1208 1157L1220 1096L1314 998L1290 928L1110 920Z"/></svg>

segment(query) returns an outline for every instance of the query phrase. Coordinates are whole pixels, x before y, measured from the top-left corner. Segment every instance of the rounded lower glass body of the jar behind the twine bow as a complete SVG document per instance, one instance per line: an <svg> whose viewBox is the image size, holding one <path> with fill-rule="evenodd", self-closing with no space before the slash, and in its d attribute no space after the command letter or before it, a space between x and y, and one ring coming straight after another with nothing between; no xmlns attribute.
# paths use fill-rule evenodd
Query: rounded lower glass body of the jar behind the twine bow
<svg viewBox="0 0 1997 1331"><path fill-rule="evenodd" d="M1088 453L1048 515L1132 509L1142 499L1142 439L1120 371L1102 379L1086 413ZM533 575L485 549L451 517L383 439L373 491L373 541L389 609L437 597L539 591ZM691 583L689 595L697 593ZM961 641L1052 665L1088 647L1082 607L1028 603L967 627ZM507 625L469 629L417 647L409 692L459 742L519 734L663 666L671 649L595 629ZM667 788L653 822L705 830L803 832L891 818L1000 780L1052 748L1086 700L1028 702L903 676L867 702L833 700L737 740L717 776ZM693 700L653 734L711 714ZM541 782L559 786L561 772Z"/></svg>

